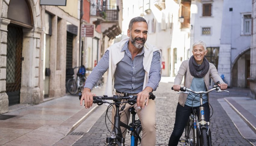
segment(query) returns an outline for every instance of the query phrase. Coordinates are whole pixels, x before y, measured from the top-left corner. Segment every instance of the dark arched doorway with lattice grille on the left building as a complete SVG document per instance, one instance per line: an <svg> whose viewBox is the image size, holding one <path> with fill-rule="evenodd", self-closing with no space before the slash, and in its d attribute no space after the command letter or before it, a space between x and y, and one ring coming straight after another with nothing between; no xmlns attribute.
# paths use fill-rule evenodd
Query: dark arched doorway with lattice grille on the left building
<svg viewBox="0 0 256 146"><path fill-rule="evenodd" d="M26 0L11 0L7 17L6 94L9 105L20 103L23 28L33 28L31 9Z"/></svg>

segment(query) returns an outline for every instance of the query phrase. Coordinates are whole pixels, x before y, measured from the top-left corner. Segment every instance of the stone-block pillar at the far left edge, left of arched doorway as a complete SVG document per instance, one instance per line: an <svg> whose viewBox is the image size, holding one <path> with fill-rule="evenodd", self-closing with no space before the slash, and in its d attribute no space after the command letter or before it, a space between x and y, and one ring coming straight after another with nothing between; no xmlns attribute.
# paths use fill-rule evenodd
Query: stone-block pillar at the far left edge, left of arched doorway
<svg viewBox="0 0 256 146"><path fill-rule="evenodd" d="M9 100L6 94L7 25L9 19L0 19L0 114L8 112Z"/></svg>

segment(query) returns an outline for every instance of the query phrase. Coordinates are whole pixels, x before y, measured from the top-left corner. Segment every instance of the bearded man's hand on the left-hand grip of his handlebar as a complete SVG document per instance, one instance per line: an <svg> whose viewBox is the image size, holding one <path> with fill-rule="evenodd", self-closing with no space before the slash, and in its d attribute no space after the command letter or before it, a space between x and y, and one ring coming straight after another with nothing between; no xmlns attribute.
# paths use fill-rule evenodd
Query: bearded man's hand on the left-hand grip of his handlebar
<svg viewBox="0 0 256 146"><path fill-rule="evenodd" d="M84 106L86 109L92 107L93 96L96 96L96 95L91 92L91 89L84 88L82 92L82 98L80 99L80 105L83 105L83 100L84 100Z"/></svg>

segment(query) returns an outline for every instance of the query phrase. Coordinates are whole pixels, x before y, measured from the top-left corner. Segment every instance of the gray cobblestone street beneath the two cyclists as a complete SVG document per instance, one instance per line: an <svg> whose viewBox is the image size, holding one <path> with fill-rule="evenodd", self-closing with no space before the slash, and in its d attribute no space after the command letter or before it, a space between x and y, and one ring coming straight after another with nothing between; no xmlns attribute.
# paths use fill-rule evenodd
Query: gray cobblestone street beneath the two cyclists
<svg viewBox="0 0 256 146"><path fill-rule="evenodd" d="M173 125L175 121L175 111L178 102L177 92L171 90L173 83L163 83L161 82L157 91L154 94L157 96L157 141L156 145L166 146L168 145L170 134L173 130ZM242 93L241 93L242 94ZM218 103L218 98L223 98L226 96L239 96L235 92L226 93L213 93L210 96L210 104L213 107L214 113L211 117L211 135L212 135L212 145L214 146L250 146L251 144L247 142L239 134L230 118L227 116L226 112ZM241 95L240 95L241 96ZM108 112L111 118L111 110ZM109 129L111 124L107 119L107 125ZM86 131L85 131L86 132ZM105 145L105 139L109 136L108 130L105 125L105 114L103 114L98 121L92 126L88 133L76 141L74 146L98 146ZM182 136L183 137L183 136ZM129 135L126 134L126 145L130 145ZM179 143L180 146L183 143Z"/></svg>

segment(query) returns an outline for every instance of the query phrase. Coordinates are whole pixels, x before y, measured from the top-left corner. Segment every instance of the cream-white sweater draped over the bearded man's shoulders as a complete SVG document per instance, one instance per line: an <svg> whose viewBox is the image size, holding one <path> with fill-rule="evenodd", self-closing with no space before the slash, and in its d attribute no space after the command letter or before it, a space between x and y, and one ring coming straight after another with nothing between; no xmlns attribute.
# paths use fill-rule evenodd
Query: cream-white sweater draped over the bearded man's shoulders
<svg viewBox="0 0 256 146"><path fill-rule="evenodd" d="M121 52L123 45L129 40L128 38L122 39L120 42L117 42L111 45L107 50L109 50L109 65L108 65L108 78L106 83L105 95L112 96L115 95L114 89L114 73L117 67L117 63L120 62L124 57L124 51ZM149 71L151 67L151 62L153 58L153 52L159 51L161 57L160 49L150 45L149 43L144 44L144 57L143 57L143 67L145 70L145 77L143 82L143 89L148 84ZM160 59L161 60L161 59Z"/></svg>

